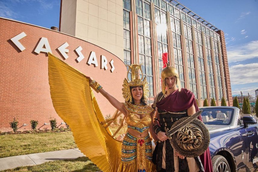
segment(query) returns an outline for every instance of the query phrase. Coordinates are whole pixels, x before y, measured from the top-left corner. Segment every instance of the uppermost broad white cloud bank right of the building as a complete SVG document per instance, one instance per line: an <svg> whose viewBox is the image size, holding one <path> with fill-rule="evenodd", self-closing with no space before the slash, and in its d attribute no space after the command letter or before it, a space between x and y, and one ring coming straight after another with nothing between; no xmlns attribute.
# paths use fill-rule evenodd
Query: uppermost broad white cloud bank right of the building
<svg viewBox="0 0 258 172"><path fill-rule="evenodd" d="M247 44L244 44L244 45L228 46L227 57L228 57L229 63L257 58L258 40L248 42Z"/></svg>

